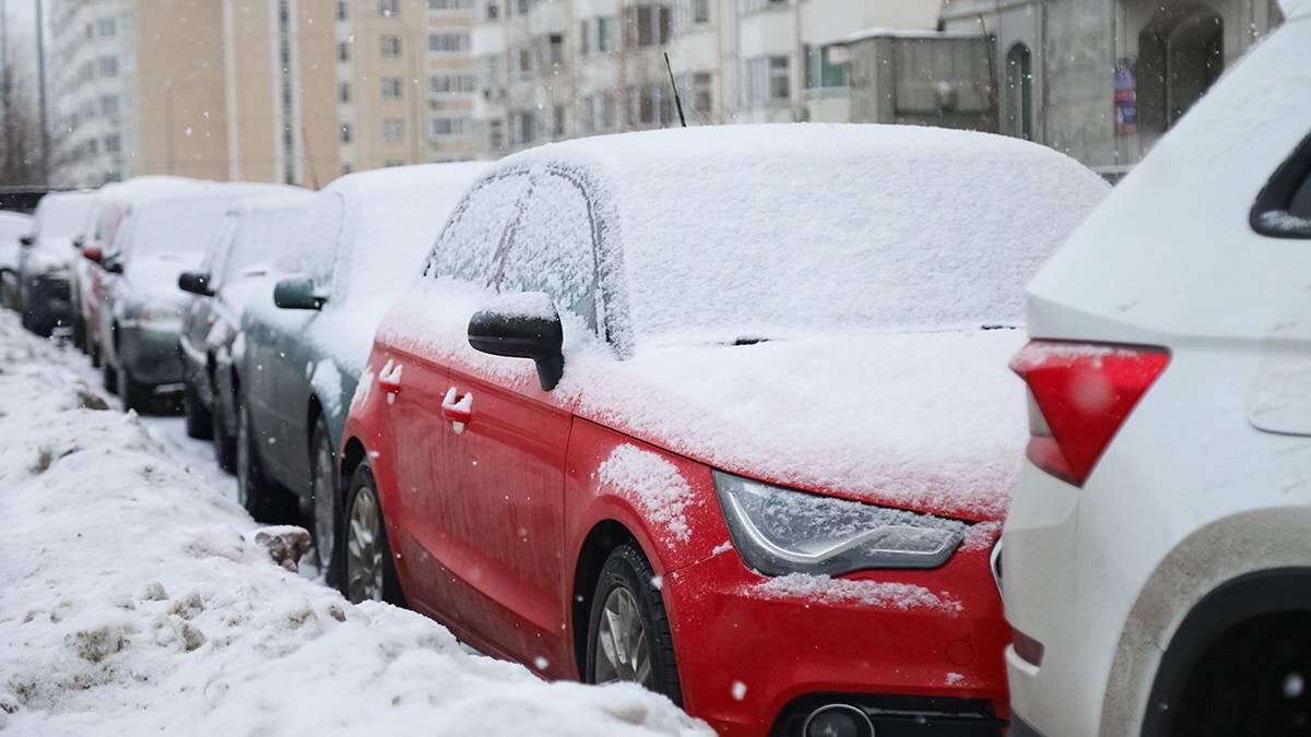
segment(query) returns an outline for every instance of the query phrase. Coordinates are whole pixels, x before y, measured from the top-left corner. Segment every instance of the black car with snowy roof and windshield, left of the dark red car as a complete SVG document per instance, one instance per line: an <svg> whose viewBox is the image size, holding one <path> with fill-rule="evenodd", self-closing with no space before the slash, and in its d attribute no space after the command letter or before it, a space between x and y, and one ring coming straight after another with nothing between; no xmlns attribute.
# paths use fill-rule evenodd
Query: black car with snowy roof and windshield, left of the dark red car
<svg viewBox="0 0 1311 737"><path fill-rule="evenodd" d="M77 260L73 240L87 224L94 197L92 191L55 191L41 198L33 215L34 237L24 241L18 254L18 302L22 325L39 336L72 324L68 271Z"/></svg>

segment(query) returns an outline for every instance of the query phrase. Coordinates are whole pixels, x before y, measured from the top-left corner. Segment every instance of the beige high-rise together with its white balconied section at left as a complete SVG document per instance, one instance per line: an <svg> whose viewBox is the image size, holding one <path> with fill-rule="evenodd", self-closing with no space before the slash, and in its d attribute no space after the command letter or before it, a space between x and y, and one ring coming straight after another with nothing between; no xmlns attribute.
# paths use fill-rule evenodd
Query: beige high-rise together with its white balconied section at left
<svg viewBox="0 0 1311 737"><path fill-rule="evenodd" d="M68 184L319 188L476 155L472 0L54 0Z"/></svg>

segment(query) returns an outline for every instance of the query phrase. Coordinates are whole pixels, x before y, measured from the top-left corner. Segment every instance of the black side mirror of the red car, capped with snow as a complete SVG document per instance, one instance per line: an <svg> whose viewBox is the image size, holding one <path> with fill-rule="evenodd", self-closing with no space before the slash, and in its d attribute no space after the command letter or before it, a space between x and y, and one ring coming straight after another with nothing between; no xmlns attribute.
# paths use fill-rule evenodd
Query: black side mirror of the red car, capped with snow
<svg viewBox="0 0 1311 737"><path fill-rule="evenodd" d="M488 302L469 320L469 345L492 355L531 358L544 392L556 388L565 372L564 327L545 292L503 294Z"/></svg>

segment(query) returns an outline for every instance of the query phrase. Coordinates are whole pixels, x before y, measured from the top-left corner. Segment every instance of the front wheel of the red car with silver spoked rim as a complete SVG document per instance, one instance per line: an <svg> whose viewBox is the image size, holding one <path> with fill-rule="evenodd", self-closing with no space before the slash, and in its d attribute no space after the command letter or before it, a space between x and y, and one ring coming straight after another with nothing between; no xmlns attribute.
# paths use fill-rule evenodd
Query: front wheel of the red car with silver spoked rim
<svg viewBox="0 0 1311 737"><path fill-rule="evenodd" d="M629 647L636 652L616 652ZM665 599L650 563L632 543L616 547L602 565L587 616L583 681L636 682L683 704Z"/></svg>

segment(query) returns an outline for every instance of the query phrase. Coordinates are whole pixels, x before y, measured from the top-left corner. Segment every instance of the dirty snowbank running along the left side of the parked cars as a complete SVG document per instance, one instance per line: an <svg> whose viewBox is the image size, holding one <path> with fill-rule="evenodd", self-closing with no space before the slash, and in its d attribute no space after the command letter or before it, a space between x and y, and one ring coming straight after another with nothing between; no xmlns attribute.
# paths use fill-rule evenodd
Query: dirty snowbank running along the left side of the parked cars
<svg viewBox="0 0 1311 737"><path fill-rule="evenodd" d="M181 422L118 413L81 355L0 313L0 730L709 734L279 567Z"/></svg>

